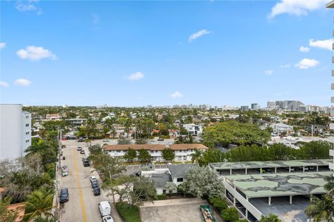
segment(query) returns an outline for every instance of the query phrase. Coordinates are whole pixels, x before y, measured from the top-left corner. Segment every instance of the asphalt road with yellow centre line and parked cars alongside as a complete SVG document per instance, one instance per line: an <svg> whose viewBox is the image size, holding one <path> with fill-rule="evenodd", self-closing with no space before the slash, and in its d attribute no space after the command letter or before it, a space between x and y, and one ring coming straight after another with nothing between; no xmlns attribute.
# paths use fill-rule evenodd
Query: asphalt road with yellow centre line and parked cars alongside
<svg viewBox="0 0 334 222"><path fill-rule="evenodd" d="M61 178L61 188L67 188L69 191L69 201L61 204L61 221L102 221L100 211L98 210L98 203L103 200L109 200L106 194L101 190L100 196L93 195L93 189L90 187L90 176L97 176L97 173L92 172L91 167L84 167L82 164L82 157L77 151L77 146L84 148L86 155L88 155L88 148L85 143L77 143L77 141L69 140L63 141L66 148L63 148L63 156L65 160L61 160L61 165L67 164L68 176ZM98 180L101 185L101 180ZM115 208L112 206L111 216L115 222L121 222Z"/></svg>

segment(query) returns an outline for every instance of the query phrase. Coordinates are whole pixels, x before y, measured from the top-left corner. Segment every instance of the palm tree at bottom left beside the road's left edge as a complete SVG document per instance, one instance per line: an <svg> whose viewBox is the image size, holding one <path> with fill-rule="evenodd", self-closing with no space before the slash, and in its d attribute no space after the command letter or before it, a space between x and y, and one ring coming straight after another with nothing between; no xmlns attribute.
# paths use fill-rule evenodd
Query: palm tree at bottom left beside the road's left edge
<svg viewBox="0 0 334 222"><path fill-rule="evenodd" d="M36 217L53 216L49 210L52 209L54 192L44 187L27 196L24 213L24 221L31 221Z"/></svg>

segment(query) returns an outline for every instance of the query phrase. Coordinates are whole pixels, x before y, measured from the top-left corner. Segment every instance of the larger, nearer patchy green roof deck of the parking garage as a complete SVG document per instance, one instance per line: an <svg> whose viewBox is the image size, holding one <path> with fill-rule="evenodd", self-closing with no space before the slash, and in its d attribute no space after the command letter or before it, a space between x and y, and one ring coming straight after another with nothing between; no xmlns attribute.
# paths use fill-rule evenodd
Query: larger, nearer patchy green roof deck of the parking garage
<svg viewBox="0 0 334 222"><path fill-rule="evenodd" d="M225 176L249 198L326 193L324 177L333 171Z"/></svg>

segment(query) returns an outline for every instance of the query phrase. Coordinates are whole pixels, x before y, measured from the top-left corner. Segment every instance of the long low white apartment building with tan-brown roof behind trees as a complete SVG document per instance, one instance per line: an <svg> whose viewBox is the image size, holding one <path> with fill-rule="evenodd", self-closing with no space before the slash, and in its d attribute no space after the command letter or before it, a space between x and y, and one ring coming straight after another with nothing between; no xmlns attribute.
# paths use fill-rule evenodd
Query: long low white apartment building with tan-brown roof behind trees
<svg viewBox="0 0 334 222"><path fill-rule="evenodd" d="M195 153L195 150L206 151L209 149L203 144L172 144L169 146L163 144L122 144L122 145L104 145L102 146L104 152L108 153L112 157L123 157L129 148L133 148L137 151L137 155L141 148L147 150L152 156L152 160L164 161L161 151L164 148L171 148L175 153L175 161L191 161L191 154ZM135 159L136 161L137 159Z"/></svg>

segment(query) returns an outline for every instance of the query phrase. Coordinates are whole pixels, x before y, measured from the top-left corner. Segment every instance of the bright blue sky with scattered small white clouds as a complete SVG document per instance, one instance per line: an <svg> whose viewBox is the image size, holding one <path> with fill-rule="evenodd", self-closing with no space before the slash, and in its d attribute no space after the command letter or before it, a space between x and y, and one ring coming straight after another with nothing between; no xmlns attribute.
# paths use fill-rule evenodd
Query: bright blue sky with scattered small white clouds
<svg viewBox="0 0 334 222"><path fill-rule="evenodd" d="M1 1L1 103L330 105L325 3Z"/></svg>

